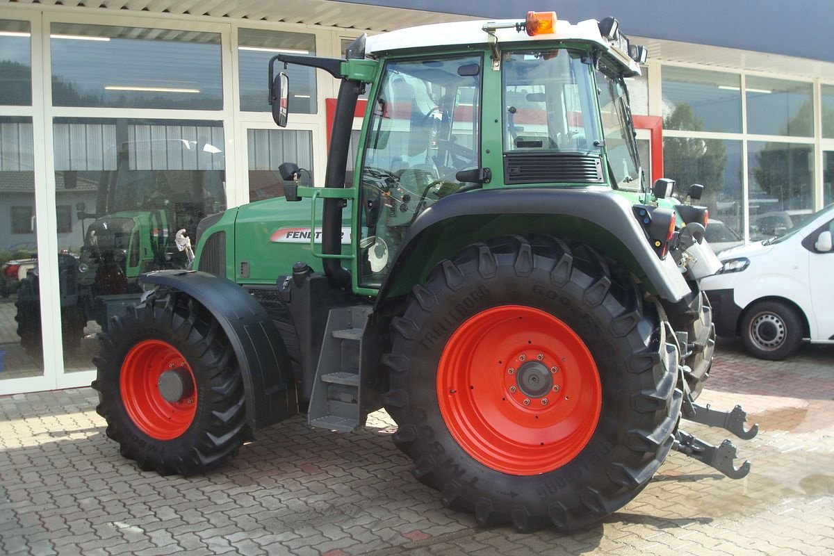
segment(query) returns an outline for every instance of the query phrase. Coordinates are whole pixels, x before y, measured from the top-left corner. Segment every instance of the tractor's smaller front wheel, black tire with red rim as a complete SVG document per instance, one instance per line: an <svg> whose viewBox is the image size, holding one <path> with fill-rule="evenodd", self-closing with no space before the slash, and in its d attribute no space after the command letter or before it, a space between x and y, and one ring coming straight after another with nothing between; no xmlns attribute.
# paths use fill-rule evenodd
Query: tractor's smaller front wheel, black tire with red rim
<svg viewBox="0 0 834 556"><path fill-rule="evenodd" d="M125 458L145 471L191 475L238 452L249 436L244 385L228 338L200 303L183 293L152 293L113 318L98 338L96 410ZM168 357L172 353L183 361ZM174 366L186 371L176 402L157 388L137 387L156 384L156 377ZM149 381L141 378L148 373L153 373Z"/></svg>

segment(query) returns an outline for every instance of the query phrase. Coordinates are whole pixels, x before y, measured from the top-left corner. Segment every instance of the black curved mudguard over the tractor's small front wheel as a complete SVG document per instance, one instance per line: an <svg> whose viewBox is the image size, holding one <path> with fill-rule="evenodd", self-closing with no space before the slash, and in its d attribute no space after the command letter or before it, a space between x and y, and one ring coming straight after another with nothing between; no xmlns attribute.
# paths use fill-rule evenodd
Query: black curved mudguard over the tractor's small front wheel
<svg viewBox="0 0 834 556"><path fill-rule="evenodd" d="M162 270L142 282L187 293L224 329L238 358L246 393L246 419L253 430L298 413L289 354L272 318L238 284L196 271Z"/></svg>

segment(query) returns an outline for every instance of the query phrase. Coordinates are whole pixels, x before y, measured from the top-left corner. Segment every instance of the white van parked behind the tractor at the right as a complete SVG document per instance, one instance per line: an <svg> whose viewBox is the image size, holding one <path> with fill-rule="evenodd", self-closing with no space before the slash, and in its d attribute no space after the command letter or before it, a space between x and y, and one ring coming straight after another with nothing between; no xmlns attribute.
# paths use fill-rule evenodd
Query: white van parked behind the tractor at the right
<svg viewBox="0 0 834 556"><path fill-rule="evenodd" d="M710 223L710 227L712 223ZM803 338L834 343L834 204L784 235L721 253L701 279L719 336L741 336L758 358L782 359Z"/></svg>

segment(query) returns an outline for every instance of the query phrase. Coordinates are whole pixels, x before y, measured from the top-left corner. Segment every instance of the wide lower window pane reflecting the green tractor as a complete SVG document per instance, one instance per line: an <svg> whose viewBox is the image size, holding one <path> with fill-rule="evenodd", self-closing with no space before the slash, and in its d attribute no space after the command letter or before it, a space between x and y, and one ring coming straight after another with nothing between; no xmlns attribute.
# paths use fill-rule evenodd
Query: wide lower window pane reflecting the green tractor
<svg viewBox="0 0 834 556"><path fill-rule="evenodd" d="M138 301L139 275L185 268L174 239L193 240L200 219L226 208L224 133L219 122L56 118L53 136L72 372L90 368L95 334Z"/></svg>

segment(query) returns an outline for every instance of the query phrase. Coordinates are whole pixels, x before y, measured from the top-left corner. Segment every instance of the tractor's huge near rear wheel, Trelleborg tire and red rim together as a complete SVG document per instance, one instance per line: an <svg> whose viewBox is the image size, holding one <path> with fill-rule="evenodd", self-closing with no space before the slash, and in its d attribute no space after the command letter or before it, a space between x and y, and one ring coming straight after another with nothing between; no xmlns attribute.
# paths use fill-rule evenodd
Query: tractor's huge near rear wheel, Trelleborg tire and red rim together
<svg viewBox="0 0 834 556"><path fill-rule="evenodd" d="M394 442L480 525L585 527L634 498L671 448L681 395L664 319L583 245L472 245L392 322Z"/></svg>

